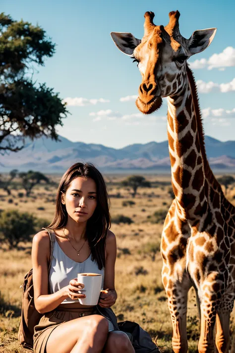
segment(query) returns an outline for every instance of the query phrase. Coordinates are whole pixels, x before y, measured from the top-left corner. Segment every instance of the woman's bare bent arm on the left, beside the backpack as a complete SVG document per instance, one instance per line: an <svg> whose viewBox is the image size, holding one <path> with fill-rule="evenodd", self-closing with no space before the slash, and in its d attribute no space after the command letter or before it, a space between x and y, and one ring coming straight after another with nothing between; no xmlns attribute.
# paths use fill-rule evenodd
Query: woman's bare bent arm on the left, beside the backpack
<svg viewBox="0 0 235 353"><path fill-rule="evenodd" d="M50 237L41 231L33 237L32 264L34 284L34 305L41 314L54 310L68 297L65 287L56 293L48 294L48 263L50 259Z"/></svg>

